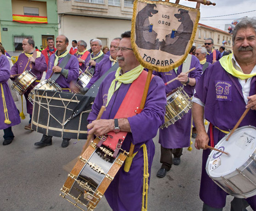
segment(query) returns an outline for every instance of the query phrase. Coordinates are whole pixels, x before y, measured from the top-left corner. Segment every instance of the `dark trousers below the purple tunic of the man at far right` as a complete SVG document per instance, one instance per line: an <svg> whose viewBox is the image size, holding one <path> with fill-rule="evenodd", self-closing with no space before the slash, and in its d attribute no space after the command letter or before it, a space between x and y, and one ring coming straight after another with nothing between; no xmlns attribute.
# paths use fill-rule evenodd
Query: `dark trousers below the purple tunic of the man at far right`
<svg viewBox="0 0 256 211"><path fill-rule="evenodd" d="M245 199L235 198L231 201L230 211L247 211L246 207L249 206ZM214 208L204 203L203 211L223 211L223 208Z"/></svg>

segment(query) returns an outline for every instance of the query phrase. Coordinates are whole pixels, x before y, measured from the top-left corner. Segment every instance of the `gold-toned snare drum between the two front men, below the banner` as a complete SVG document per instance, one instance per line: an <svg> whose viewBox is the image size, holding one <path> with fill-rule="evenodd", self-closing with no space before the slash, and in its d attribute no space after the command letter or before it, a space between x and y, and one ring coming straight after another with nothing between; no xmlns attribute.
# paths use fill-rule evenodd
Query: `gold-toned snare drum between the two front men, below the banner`
<svg viewBox="0 0 256 211"><path fill-rule="evenodd" d="M182 87L178 87L167 94L167 105L165 108L165 123L161 126L162 129L174 124L174 122L189 112L191 109L191 99Z"/></svg>

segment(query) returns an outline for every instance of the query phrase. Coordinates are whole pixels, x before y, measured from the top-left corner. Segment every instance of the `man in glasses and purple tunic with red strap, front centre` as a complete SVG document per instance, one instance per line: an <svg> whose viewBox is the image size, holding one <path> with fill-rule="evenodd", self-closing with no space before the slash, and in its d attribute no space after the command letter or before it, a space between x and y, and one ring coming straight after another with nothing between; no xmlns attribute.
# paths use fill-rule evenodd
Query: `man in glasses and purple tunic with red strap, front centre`
<svg viewBox="0 0 256 211"><path fill-rule="evenodd" d="M145 187L148 188L150 169L155 154L152 138L155 137L158 128L164 122L166 95L163 81L158 76L154 76L151 78L144 109L138 112L134 106L135 110L132 110L134 116L115 118L117 111L121 112L120 106L123 107L122 112L126 113L129 109L127 103L141 97L136 95L141 89L134 84L145 86L145 81L142 82L141 79L144 80L147 77L147 72L143 70L144 67L139 64L134 55L131 46L131 32L125 32L121 37L119 47L116 49L118 50L119 68L116 72L109 73L100 84L92 111L87 119L90 123L87 128L89 134L95 134L98 137L110 131L127 132L126 137L123 137L121 149L129 151L131 143L134 144L131 166L127 169L125 168L126 164L122 165L106 190L105 197L114 211L140 211L147 209ZM127 94L129 100L123 100L126 99ZM95 120L101 106L106 106L106 109L101 119ZM138 114L135 115L135 112ZM125 115L124 113L122 116ZM144 168L148 168L148 172L144 172ZM148 182L144 183L143 181Z"/></svg>

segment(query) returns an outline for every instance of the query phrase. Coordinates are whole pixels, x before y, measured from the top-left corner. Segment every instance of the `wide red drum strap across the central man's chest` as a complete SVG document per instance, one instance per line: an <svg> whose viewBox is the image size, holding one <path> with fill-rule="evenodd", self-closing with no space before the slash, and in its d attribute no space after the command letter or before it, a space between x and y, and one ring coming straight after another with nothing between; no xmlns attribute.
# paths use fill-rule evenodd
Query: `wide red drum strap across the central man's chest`
<svg viewBox="0 0 256 211"><path fill-rule="evenodd" d="M128 92L122 100L122 104L114 117L115 119L133 117L134 115L141 112L141 109L139 109L139 105L144 92L146 79L147 72L142 71L139 77L134 80L134 82L128 89ZM97 144L97 146L100 147L101 144L103 144L106 147L110 148L114 151L113 157L116 158L127 133L128 132L124 131L120 131L118 133L110 131L106 134L106 136L102 136L100 138L100 142Z"/></svg>

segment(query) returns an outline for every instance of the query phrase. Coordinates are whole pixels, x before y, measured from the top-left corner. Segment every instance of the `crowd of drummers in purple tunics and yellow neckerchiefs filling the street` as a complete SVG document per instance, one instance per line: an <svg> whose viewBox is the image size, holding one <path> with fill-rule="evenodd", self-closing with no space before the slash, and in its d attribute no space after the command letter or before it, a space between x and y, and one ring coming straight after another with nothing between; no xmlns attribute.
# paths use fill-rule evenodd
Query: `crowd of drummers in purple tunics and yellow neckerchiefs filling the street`
<svg viewBox="0 0 256 211"><path fill-rule="evenodd" d="M27 70L36 76L35 84L37 84L42 79L43 72L47 71L45 79L54 76L62 91L78 92L72 82L76 82L79 74L85 72L92 76L83 90L86 93L111 69L100 84L89 114L88 133L99 137L112 130L117 133L127 132L121 148L129 151L130 145L134 144L131 166L129 170L121 167L106 190L105 196L114 211L146 210L147 200L144 200L144 197L147 190L144 190L143 178L149 183L155 154L152 139L165 122L167 94L184 86L184 91L189 97L193 97L192 110L174 124L159 130L161 168L157 172L157 177L165 177L173 164L180 164L183 148L190 146L192 124L195 124L193 131L195 147L198 150L203 149L200 185L200 199L204 202L203 211L222 211L226 204L227 193L206 173L206 161L210 154L206 145L212 143L216 145L226 134L224 132L234 127L245 108L250 108L250 111L240 127L256 126L256 19L245 18L234 28L234 54L226 52L223 46L219 50L214 50L213 39L207 38L204 46L191 49L190 54L179 67L169 72L153 72L144 109L136 111L135 116L127 118L116 118L116 114L124 112L123 106L127 103L124 99L127 95L129 99L138 97L136 95L138 84L144 83L147 77L147 70L139 64L134 55L130 31L111 40L109 48L105 46L102 49L100 39L91 39L89 50L84 40L78 42L72 40L72 47L68 51L68 43L66 36L59 35L56 38L55 48L54 40L48 38L47 47L40 52L35 50L33 39L23 39L24 52L12 67L4 47L0 46L0 129L4 130L3 145L11 144L14 139L11 127L20 123L19 112L7 83L9 78L15 80L18 74ZM193 67L195 70L185 73ZM165 85L167 81L176 77L178 79L175 82ZM224 93L226 98L216 97L216 84L222 84L220 82L230 84L229 92ZM30 116L25 129L33 130L31 128L33 105L28 100L30 91L31 89L28 89L24 93ZM101 119L96 120L101 106L106 106L106 109ZM209 128L213 135L206 132L204 118L210 122ZM63 139L61 147L67 147L69 140ZM51 144L52 136L43 134L42 139L34 145L44 147ZM145 156L147 164L145 164ZM143 172L145 166L148 168L147 175ZM234 198L231 211L245 211L248 205L256 210L256 196L247 199Z"/></svg>

